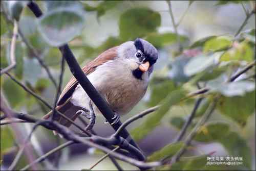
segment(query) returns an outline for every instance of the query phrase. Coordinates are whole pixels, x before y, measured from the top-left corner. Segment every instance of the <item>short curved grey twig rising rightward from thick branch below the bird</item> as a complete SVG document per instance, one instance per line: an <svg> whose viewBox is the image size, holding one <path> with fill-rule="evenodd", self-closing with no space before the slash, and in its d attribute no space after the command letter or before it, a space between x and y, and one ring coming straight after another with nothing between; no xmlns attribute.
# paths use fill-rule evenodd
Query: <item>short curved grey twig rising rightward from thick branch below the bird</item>
<svg viewBox="0 0 256 171"><path fill-rule="evenodd" d="M117 137L119 135L119 133L125 128L127 127L129 124L131 124L133 121L149 114L149 113L152 113L154 111L156 111L160 106L155 106L155 107L152 107L152 108L149 108L149 109L146 109L145 111L127 119L120 127L119 129L115 132L115 134L113 134L113 136Z"/></svg>

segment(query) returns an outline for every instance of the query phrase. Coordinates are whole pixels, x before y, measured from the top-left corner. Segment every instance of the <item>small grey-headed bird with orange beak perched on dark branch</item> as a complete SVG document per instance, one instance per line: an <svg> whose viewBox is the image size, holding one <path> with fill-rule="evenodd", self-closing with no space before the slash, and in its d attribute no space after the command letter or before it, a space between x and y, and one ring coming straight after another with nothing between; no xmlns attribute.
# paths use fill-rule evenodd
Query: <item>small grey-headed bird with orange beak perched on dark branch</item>
<svg viewBox="0 0 256 171"><path fill-rule="evenodd" d="M158 59L156 48L146 40L127 41L100 54L82 68L90 82L115 112L126 114L144 96L153 66ZM95 123L95 114L101 114L90 97L73 77L60 94L56 109L75 120L80 114L90 119L87 130ZM52 111L43 118L49 119ZM57 115L57 114L56 114ZM57 115L54 120L69 127L70 121Z"/></svg>

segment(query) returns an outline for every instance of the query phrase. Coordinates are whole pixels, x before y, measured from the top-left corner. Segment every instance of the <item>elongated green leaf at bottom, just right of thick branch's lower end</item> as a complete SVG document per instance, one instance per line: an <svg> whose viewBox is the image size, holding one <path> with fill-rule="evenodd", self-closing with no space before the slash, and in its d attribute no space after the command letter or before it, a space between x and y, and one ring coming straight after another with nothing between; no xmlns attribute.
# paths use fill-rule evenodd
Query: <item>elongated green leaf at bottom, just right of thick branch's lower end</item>
<svg viewBox="0 0 256 171"><path fill-rule="evenodd" d="M162 149L160 149L157 152L154 152L151 156L147 158L147 161L158 161L160 159L163 159L166 156L172 157L174 156L182 147L184 146L184 142L176 142L176 143L170 143L166 146L164 146Z"/></svg>

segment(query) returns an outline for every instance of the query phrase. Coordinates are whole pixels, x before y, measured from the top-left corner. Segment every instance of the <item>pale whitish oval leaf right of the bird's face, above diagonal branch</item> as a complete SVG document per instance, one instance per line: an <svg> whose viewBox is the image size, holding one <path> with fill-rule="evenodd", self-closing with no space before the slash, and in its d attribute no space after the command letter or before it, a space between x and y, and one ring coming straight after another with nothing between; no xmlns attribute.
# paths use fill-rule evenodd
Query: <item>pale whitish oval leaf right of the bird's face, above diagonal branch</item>
<svg viewBox="0 0 256 171"><path fill-rule="evenodd" d="M210 66L214 65L215 54L210 56L199 55L191 59L184 67L184 73L186 76L193 76L198 72L208 69Z"/></svg>

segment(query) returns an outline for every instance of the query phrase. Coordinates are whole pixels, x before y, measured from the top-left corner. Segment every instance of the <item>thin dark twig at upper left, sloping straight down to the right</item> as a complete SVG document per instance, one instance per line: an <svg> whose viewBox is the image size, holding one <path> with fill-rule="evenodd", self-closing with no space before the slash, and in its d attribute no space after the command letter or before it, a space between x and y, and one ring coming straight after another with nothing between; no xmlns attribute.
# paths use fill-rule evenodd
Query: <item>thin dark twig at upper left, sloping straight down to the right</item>
<svg viewBox="0 0 256 171"><path fill-rule="evenodd" d="M23 42L27 45L29 51L32 53L33 57L35 57L37 59L37 61L39 62L39 64L46 70L49 79L52 81L53 85L56 87L57 89L57 83L54 79L54 77L51 74L51 71L49 69L49 67L45 64L45 62L40 58L40 55L36 52L36 50L34 49L34 47L29 43L29 41L27 40L27 38L24 36L24 34L22 33L22 31L20 29L18 29L18 33L20 35L20 37L22 38Z"/></svg>

